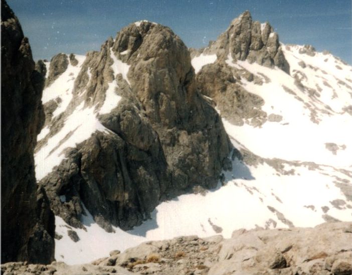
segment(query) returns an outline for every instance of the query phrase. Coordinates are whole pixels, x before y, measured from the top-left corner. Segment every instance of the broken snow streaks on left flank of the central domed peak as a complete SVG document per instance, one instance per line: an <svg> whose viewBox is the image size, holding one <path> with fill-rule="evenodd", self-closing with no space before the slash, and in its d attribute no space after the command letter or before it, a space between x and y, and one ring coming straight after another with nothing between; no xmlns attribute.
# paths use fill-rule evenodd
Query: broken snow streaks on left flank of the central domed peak
<svg viewBox="0 0 352 275"><path fill-rule="evenodd" d="M127 83L129 83L127 78L129 65L123 63L121 60L118 60L111 49L110 57L113 60L111 68L114 76L117 74L122 74L122 77L127 81ZM75 58L78 60L78 64L76 66L69 64L66 71L43 91L43 104L49 102L50 100L59 100L57 101L59 102L59 106L53 112L53 120L67 109L73 98L74 81L81 70L85 56L75 55ZM47 72L49 72L50 69L49 65L50 63L46 63L48 68ZM90 78L91 75L89 69L87 73ZM66 118L62 129L51 136L46 145L35 154L34 157L36 163L35 169L37 181L43 179L46 175L53 171L55 166L59 165L62 160L65 159L64 151L66 149L76 147L77 144L87 140L95 131L101 131L107 134L112 133L100 123L97 115L109 113L118 105L118 102L121 100L121 96L116 94L116 87L117 83L115 80L108 83L104 103L99 109L97 109L96 106L88 108L84 106L84 102L82 101L81 104L77 106L70 114L70 116ZM37 141L39 142L43 140L49 132L50 129L46 126L37 136Z"/></svg>

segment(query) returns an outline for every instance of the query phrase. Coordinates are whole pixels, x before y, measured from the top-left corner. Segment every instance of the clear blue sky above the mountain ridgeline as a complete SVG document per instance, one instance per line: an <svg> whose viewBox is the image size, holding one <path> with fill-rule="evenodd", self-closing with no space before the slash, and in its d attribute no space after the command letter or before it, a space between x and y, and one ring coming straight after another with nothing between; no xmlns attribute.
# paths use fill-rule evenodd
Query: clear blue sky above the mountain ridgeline
<svg viewBox="0 0 352 275"><path fill-rule="evenodd" d="M268 21L285 44L311 44L351 60L350 0L8 0L34 58L59 52L85 54L124 26L149 20L170 27L188 47L208 45L232 19L249 10Z"/></svg>

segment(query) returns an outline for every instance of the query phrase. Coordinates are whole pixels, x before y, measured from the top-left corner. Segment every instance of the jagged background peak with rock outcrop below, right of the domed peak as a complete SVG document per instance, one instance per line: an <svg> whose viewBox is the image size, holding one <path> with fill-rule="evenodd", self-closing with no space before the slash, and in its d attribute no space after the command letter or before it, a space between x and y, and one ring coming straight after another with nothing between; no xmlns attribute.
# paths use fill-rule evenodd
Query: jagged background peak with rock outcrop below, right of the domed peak
<svg viewBox="0 0 352 275"><path fill-rule="evenodd" d="M215 42L200 51L191 49L193 57L200 53L216 54L217 60L207 64L197 73L197 86L201 93L211 97L222 117L236 125L244 123L260 127L268 114L261 109L264 100L243 88L242 79L262 85L270 81L265 75L256 75L241 66L233 67L237 60L247 60L266 67L282 69L289 74L279 37L269 23L253 21L247 11L234 19L229 28Z"/></svg>

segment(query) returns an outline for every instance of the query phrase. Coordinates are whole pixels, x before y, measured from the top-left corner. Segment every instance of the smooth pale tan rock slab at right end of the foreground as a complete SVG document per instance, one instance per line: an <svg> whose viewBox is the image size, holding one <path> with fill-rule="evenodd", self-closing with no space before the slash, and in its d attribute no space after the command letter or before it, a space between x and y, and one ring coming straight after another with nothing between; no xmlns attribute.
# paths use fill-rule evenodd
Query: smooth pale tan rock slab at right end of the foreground
<svg viewBox="0 0 352 275"><path fill-rule="evenodd" d="M209 274L277 273L330 274L339 262L351 272L350 222L324 223L314 228L236 230L222 246L219 262ZM319 242L316 239L319 239ZM329 239L329 241L327 241ZM326 241L324 241L326 240Z"/></svg>

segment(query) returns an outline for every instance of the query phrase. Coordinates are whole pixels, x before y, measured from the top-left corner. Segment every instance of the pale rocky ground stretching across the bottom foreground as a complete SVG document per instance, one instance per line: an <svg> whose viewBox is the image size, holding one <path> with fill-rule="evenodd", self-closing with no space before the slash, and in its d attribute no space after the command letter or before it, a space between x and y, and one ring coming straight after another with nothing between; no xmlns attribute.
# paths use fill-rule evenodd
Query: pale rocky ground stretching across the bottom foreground
<svg viewBox="0 0 352 275"><path fill-rule="evenodd" d="M145 242L82 265L9 262L2 274L336 274L352 273L352 222L314 228L240 229L232 238Z"/></svg>

